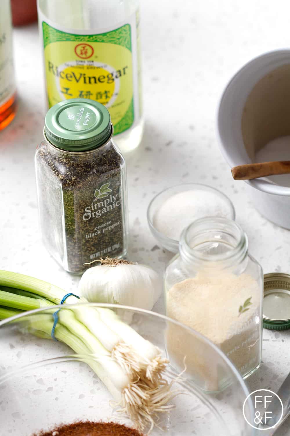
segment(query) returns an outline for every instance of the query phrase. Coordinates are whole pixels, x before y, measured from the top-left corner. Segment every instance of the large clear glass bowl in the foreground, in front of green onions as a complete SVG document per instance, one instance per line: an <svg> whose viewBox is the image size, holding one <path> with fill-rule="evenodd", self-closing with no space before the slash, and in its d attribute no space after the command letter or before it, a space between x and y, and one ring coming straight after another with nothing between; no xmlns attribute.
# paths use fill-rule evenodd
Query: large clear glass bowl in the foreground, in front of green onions
<svg viewBox="0 0 290 436"><path fill-rule="evenodd" d="M114 412L107 388L84 359L61 342L28 332L36 317L51 317L56 308L108 307L170 359L165 377L181 390L176 407L161 414L152 436L253 436L243 418L246 385L226 356L194 330L157 313L117 305L84 304L40 309L0 321L0 422L3 435L31 436L76 420L115 421L133 426ZM206 393L212 390L218 394ZM246 403L247 416L253 410ZM144 431L144 434L146 431Z"/></svg>

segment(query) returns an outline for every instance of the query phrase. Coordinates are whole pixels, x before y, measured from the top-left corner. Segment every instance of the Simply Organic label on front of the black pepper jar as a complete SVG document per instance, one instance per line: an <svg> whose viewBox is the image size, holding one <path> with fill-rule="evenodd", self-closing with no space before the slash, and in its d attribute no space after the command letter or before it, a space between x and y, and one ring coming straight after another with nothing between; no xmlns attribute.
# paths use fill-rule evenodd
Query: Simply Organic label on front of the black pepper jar
<svg viewBox="0 0 290 436"><path fill-rule="evenodd" d="M120 177L78 194L78 210L83 262L119 255L123 250Z"/></svg>

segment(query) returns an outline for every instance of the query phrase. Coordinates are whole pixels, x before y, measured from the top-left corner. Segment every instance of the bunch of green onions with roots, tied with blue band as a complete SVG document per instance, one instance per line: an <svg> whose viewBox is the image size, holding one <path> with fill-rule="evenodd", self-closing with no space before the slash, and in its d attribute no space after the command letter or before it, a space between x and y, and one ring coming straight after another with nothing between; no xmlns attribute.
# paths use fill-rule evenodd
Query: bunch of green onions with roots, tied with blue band
<svg viewBox="0 0 290 436"><path fill-rule="evenodd" d="M0 320L47 307L45 313L24 318L24 329L38 337L51 338L51 307L60 304L64 295L65 290L43 280L0 270ZM65 308L67 303L75 304L73 309ZM167 359L112 310L79 303L87 300L67 298L58 312L54 337L90 365L113 395L120 412L129 416L138 429L150 424L151 430L156 413L171 409L173 405L167 403L177 394L163 378Z"/></svg>

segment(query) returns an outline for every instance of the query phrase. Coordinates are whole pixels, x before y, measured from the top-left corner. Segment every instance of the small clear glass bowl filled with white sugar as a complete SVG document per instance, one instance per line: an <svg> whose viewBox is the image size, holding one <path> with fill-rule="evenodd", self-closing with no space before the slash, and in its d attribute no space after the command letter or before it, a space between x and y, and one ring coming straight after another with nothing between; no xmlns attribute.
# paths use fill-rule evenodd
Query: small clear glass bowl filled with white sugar
<svg viewBox="0 0 290 436"><path fill-rule="evenodd" d="M225 194L199 183L181 184L161 191L151 200L147 210L153 236L164 249L173 253L178 252L183 229L205 216L234 220L236 213Z"/></svg>

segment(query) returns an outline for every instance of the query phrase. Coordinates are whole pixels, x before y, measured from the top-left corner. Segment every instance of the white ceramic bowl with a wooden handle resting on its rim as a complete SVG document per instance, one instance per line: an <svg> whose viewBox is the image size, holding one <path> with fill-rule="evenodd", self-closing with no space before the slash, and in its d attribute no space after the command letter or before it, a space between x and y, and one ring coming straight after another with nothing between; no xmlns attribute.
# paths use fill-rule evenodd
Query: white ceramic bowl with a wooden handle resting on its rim
<svg viewBox="0 0 290 436"><path fill-rule="evenodd" d="M289 77L290 50L285 49L253 59L227 84L218 106L217 133L231 167L254 162L255 152L270 140L290 135ZM271 177L247 183L257 210L290 228L290 187Z"/></svg>

